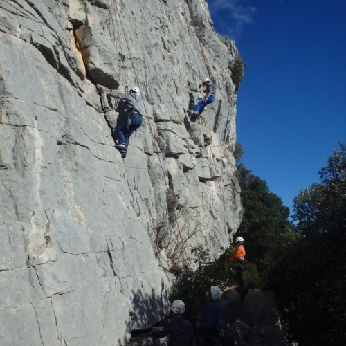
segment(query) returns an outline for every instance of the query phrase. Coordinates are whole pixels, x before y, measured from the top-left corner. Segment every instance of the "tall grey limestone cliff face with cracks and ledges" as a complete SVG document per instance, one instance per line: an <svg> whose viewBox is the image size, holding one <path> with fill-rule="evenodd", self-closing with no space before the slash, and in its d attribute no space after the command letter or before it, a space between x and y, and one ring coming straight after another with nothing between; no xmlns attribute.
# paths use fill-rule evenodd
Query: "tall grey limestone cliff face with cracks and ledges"
<svg viewBox="0 0 346 346"><path fill-rule="evenodd" d="M170 269L229 245L236 55L203 0L1 1L1 345L123 345L167 313ZM124 162L98 91L132 85Z"/></svg>

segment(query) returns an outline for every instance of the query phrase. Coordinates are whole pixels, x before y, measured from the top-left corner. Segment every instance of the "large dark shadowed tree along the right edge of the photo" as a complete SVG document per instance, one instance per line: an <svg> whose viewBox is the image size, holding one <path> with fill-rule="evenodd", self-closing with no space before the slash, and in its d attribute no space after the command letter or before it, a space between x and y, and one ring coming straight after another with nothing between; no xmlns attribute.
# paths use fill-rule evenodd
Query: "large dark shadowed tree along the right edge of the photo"
<svg viewBox="0 0 346 346"><path fill-rule="evenodd" d="M302 346L345 343L345 157L340 143L320 170L320 183L295 197L293 218L300 237L270 275Z"/></svg>

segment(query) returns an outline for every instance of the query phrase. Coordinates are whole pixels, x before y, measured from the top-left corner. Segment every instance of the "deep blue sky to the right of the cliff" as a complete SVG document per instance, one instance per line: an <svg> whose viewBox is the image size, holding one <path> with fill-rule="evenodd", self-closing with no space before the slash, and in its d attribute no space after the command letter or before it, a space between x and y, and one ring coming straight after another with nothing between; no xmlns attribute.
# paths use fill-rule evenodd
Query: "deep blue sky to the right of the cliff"
<svg viewBox="0 0 346 346"><path fill-rule="evenodd" d="M242 162L291 208L346 142L346 1L208 0L246 63L237 98Z"/></svg>

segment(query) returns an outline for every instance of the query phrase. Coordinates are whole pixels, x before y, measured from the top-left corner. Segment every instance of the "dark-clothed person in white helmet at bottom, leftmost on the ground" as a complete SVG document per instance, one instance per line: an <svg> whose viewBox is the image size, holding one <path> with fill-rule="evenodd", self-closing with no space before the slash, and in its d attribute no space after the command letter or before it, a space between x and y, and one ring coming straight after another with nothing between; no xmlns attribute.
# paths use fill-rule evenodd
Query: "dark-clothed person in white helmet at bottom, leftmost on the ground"
<svg viewBox="0 0 346 346"><path fill-rule="evenodd" d="M171 307L173 317L161 330L152 332L154 338L170 337L169 346L193 346L195 345L194 328L192 323L184 320L185 304L182 300L174 300Z"/></svg>

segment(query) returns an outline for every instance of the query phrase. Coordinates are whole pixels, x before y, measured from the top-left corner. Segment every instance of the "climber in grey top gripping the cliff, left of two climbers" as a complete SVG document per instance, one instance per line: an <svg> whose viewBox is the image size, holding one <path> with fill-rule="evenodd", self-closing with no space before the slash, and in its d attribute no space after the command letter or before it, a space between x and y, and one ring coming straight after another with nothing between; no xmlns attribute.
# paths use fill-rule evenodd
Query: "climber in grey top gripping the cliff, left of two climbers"
<svg viewBox="0 0 346 346"><path fill-rule="evenodd" d="M129 147L129 138L143 122L143 102L140 89L138 86L133 86L129 93L125 94L108 91L103 91L102 93L125 101L116 122L116 129L113 132L114 140L116 140L116 149L119 150L121 157L125 158L127 148Z"/></svg>

